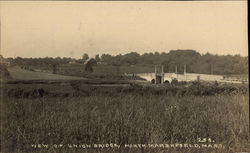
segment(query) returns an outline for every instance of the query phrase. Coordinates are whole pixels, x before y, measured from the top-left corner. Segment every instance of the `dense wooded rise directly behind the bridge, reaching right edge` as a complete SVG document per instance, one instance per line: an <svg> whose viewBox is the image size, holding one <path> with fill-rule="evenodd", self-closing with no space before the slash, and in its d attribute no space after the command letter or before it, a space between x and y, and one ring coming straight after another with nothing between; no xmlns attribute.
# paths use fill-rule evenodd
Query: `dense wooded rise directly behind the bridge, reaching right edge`
<svg viewBox="0 0 250 153"><path fill-rule="evenodd" d="M142 55L131 52L125 55L111 56L103 54L101 61L110 65L164 65L165 72L183 73L184 65L187 72L205 74L247 74L248 57L240 55L201 55L195 50L171 50L169 53L144 53Z"/></svg>

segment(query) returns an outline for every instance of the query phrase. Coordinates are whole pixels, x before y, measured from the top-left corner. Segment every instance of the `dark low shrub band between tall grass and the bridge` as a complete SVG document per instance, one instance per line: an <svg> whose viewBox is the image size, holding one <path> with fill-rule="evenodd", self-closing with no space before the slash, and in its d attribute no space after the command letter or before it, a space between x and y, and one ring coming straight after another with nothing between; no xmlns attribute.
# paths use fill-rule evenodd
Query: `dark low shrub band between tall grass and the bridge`
<svg viewBox="0 0 250 153"><path fill-rule="evenodd" d="M138 84L128 81L9 81L4 84L4 95L12 98L87 97L109 94L215 96L247 94L247 84L209 82L177 82L176 84Z"/></svg>

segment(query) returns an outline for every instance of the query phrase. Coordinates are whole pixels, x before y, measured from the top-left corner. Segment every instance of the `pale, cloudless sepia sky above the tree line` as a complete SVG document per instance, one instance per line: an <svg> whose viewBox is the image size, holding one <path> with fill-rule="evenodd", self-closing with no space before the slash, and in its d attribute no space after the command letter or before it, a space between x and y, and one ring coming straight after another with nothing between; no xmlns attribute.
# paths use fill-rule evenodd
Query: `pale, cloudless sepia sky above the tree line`
<svg viewBox="0 0 250 153"><path fill-rule="evenodd" d="M247 1L1 1L4 57L248 56Z"/></svg>

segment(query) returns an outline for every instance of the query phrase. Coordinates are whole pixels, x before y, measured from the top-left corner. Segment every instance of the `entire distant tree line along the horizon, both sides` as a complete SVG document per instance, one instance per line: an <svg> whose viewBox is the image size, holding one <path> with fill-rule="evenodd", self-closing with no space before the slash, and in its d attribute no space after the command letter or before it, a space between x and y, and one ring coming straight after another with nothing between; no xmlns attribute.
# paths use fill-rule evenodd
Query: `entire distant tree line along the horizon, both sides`
<svg viewBox="0 0 250 153"><path fill-rule="evenodd" d="M89 59L88 54L83 54L82 59L68 57L45 57L45 58L9 58L18 65L48 66L74 63L84 63ZM213 55L206 53L201 55L195 50L171 50L168 53L144 53L130 52L124 55L102 54L96 55L94 59L97 63L105 63L112 66L154 66L164 65L165 72L183 73L184 65L187 72L205 74L247 74L248 57L240 55Z"/></svg>

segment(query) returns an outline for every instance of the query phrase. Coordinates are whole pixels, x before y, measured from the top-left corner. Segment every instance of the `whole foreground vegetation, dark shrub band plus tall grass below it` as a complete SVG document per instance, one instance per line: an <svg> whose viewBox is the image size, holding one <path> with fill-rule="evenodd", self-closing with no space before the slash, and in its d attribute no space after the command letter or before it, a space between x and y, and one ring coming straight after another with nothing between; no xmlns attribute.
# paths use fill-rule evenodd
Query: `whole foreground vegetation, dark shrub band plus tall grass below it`
<svg viewBox="0 0 250 153"><path fill-rule="evenodd" d="M96 87L6 84L3 152L243 152L248 87L200 84ZM42 94L41 94L42 93ZM24 96L29 95L29 96ZM212 142L198 142L211 138ZM222 144L222 148L80 148L68 144ZM35 148L37 144L49 147ZM55 147L62 144L62 147ZM33 145L33 147L32 147Z"/></svg>

